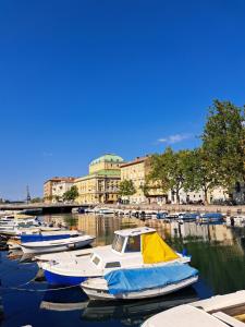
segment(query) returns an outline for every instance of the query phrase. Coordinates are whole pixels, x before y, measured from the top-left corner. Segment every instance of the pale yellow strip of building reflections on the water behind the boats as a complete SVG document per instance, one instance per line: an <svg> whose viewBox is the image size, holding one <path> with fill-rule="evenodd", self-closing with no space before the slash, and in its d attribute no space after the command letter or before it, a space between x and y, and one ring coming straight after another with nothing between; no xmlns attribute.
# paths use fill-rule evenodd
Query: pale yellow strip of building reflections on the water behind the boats
<svg viewBox="0 0 245 327"><path fill-rule="evenodd" d="M155 228L164 239L194 238L207 242L223 242L232 244L237 237L245 237L244 229L222 225L198 225L196 222L179 223L164 222L158 219L142 221L134 217L112 217L95 215L51 215L45 220L62 223L70 228L77 228L86 233L96 235L96 245L109 244L113 232L119 229L149 226Z"/></svg>

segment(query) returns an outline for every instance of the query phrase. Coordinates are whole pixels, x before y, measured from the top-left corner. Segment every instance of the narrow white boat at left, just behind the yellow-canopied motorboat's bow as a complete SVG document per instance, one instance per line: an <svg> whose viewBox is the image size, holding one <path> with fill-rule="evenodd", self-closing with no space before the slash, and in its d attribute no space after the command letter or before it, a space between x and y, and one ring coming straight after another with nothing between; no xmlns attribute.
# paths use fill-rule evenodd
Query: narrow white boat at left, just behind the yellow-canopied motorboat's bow
<svg viewBox="0 0 245 327"><path fill-rule="evenodd" d="M53 241L27 242L22 243L21 246L24 253L50 253L79 249L90 244L94 240L95 238L90 235L76 235Z"/></svg>

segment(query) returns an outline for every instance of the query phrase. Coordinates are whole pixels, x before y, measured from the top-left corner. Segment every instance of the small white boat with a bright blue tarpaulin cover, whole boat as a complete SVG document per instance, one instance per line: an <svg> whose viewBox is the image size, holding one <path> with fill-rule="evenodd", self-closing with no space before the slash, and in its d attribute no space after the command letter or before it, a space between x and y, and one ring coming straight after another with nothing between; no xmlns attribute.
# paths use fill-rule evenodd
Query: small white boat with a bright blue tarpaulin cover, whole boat
<svg viewBox="0 0 245 327"><path fill-rule="evenodd" d="M139 300L172 293L196 282L198 271L186 264L119 269L81 287L90 300Z"/></svg>

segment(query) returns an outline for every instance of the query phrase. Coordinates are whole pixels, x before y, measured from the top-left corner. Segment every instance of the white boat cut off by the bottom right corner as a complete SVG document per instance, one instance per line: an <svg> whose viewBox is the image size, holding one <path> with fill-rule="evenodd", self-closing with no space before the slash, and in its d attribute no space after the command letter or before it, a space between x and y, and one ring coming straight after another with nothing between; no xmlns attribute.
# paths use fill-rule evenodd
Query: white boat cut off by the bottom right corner
<svg viewBox="0 0 245 327"><path fill-rule="evenodd" d="M175 306L142 327L245 327L245 290Z"/></svg>

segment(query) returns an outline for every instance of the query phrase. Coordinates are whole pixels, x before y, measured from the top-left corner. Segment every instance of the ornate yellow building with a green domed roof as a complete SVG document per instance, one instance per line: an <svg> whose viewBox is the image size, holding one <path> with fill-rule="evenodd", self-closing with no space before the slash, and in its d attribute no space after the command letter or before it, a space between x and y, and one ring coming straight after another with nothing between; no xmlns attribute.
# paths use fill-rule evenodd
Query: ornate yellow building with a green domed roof
<svg viewBox="0 0 245 327"><path fill-rule="evenodd" d="M89 165L89 173L75 180L79 204L117 203L123 158L107 154Z"/></svg>

